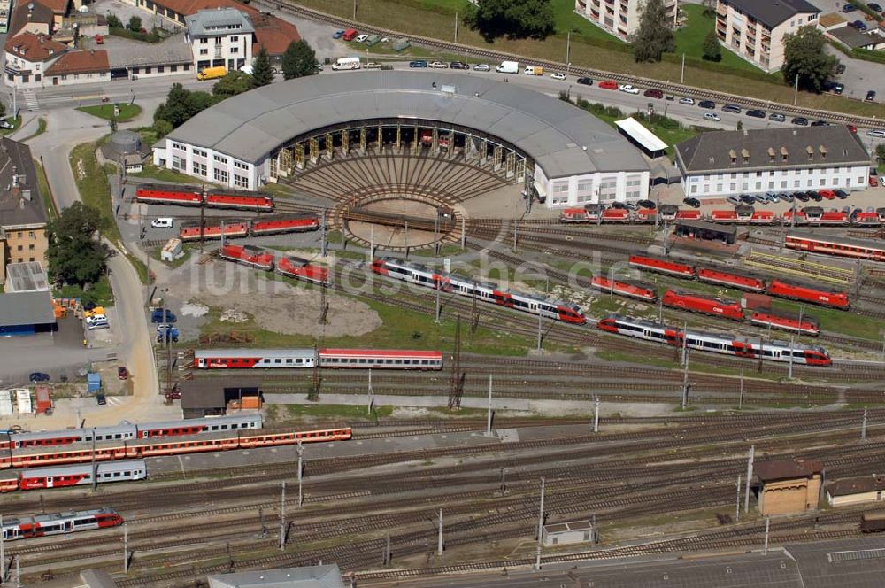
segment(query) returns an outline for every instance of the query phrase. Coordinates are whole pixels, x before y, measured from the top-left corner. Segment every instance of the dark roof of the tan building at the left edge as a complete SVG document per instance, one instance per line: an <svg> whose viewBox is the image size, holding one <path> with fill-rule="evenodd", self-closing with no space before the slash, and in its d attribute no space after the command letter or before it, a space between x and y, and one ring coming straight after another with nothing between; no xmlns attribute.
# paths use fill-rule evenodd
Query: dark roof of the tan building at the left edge
<svg viewBox="0 0 885 588"><path fill-rule="evenodd" d="M25 143L0 138L0 227L10 229L45 224L46 209L30 148Z"/></svg>

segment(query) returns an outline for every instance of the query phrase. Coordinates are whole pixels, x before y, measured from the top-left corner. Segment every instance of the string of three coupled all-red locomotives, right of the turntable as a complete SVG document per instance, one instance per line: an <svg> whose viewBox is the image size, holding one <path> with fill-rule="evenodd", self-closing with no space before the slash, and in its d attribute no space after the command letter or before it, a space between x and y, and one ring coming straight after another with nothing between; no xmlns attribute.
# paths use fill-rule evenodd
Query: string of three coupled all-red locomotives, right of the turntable
<svg viewBox="0 0 885 588"><path fill-rule="evenodd" d="M732 273L730 270L694 267L681 261L646 255L631 255L629 263L632 267L652 272L678 275L688 279L696 278L701 282L711 282L741 290L764 291L766 294L779 298L789 298L842 310L848 310L850 307L848 292L824 290L819 286L806 286L782 280L770 280L766 283L759 278Z"/></svg>

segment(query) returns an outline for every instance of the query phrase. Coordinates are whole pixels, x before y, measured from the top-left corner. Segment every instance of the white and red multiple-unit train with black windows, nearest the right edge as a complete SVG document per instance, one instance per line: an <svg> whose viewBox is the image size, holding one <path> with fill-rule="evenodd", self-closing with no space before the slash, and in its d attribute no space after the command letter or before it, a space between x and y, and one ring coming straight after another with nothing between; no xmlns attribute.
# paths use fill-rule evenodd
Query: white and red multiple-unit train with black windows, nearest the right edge
<svg viewBox="0 0 885 588"><path fill-rule="evenodd" d="M642 321L620 314L611 314L596 323L598 329L646 341L682 346L702 352L721 353L735 357L768 361L786 361L808 366L831 366L833 360L818 345L789 344L782 341L760 341L727 333L683 330L651 321Z"/></svg>

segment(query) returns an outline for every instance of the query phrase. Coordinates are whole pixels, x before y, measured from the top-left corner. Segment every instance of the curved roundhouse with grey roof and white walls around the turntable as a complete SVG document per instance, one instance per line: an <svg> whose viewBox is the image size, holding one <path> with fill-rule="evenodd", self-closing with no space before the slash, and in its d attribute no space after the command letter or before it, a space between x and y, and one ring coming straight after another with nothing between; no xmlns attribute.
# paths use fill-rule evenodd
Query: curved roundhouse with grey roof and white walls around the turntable
<svg viewBox="0 0 885 588"><path fill-rule="evenodd" d="M497 80L357 71L274 83L200 112L154 147L154 162L258 190L322 159L318 144L333 133L359 128L365 142L366 129L399 137L401 129L433 128L434 137L455 136L465 156L494 150L509 177L551 208L647 197L649 164L616 129L573 104Z"/></svg>

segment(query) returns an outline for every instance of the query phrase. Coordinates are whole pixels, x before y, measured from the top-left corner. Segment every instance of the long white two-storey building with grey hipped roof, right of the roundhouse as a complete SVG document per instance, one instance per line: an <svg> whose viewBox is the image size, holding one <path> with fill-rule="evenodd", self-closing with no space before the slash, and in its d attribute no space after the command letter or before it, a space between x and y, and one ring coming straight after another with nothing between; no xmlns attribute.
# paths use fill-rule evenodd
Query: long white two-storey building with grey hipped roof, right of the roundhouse
<svg viewBox="0 0 885 588"><path fill-rule="evenodd" d="M870 154L844 125L701 133L676 145L691 197L866 189Z"/></svg>

